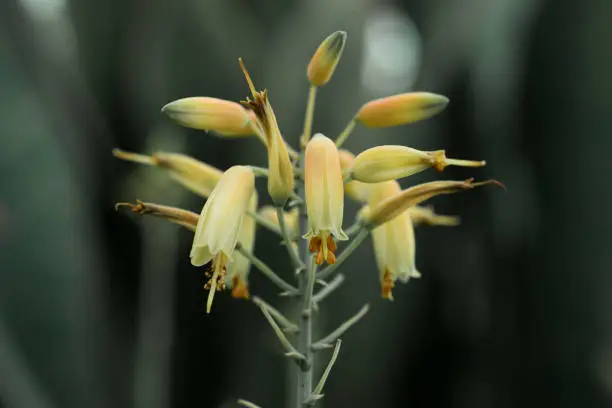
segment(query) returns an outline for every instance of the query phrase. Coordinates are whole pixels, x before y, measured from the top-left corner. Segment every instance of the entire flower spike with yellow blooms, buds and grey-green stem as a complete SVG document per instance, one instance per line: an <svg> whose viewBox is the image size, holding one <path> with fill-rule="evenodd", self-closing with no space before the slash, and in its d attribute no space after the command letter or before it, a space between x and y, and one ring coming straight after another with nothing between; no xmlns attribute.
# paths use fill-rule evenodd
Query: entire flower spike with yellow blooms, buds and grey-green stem
<svg viewBox="0 0 612 408"><path fill-rule="evenodd" d="M232 289L234 298L249 298L251 266L294 302L298 312L286 316L259 296L250 297L278 338L285 356L297 367L295 408L312 407L323 398L323 387L338 357L341 339L368 312L365 304L355 315L320 340L313 340L313 321L322 313L319 304L341 290L351 272L332 275L346 265L352 254L372 236L378 281L383 298L392 299L396 281L420 276L416 269L415 225L454 226L459 219L433 212L418 204L432 197L466 191L495 180L473 182L437 181L402 190L396 181L428 168L482 167L484 161L450 159L444 150L420 151L407 146L377 146L357 156L341 149L357 125L366 128L400 126L427 119L448 104L442 95L413 92L363 104L335 142L313 133L315 102L319 88L333 76L346 44L346 33L329 35L315 51L307 67L310 83L304 127L295 136L297 150L282 136L268 91L257 91L242 59L239 65L250 96L240 103L213 97L188 97L166 104L162 111L177 123L214 131L223 138L256 137L266 148L268 167L233 166L226 171L179 153L157 152L150 156L114 150L116 157L166 171L176 182L206 199L201 214L155 203L120 203L141 215L153 215L181 225L194 233L191 262L208 278L206 312L215 293ZM273 206L259 207L255 177L267 179ZM344 199L362 205L355 223L343 229ZM287 249L291 266L280 273L255 255L256 227L273 232ZM338 251L342 241L348 243ZM319 266L327 264L320 271ZM332 278L330 281L327 279ZM292 284L288 280L294 279ZM373 275L369 284L375 284ZM315 293L315 286L322 288ZM313 388L316 353L334 348L316 387ZM350 346L349 346L350 347ZM238 400L246 407L252 402Z"/></svg>

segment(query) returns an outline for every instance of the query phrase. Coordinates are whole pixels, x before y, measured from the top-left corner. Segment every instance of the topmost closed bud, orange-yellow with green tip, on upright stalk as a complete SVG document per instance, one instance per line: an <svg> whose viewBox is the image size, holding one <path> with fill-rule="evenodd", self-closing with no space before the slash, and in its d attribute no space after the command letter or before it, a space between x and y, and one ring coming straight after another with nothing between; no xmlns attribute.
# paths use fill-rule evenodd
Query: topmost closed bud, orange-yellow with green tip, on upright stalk
<svg viewBox="0 0 612 408"><path fill-rule="evenodd" d="M308 63L308 80L312 85L323 86L330 80L340 61L345 43L346 32L336 31L319 45Z"/></svg>

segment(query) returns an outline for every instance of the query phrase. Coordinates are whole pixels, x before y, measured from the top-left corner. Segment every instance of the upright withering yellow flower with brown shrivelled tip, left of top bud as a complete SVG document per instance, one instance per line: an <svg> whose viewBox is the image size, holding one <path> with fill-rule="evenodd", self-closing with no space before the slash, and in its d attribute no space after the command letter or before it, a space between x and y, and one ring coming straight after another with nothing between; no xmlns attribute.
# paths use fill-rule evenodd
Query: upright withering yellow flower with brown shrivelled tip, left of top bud
<svg viewBox="0 0 612 408"><path fill-rule="evenodd" d="M261 135L268 147L268 193L277 206L285 205L293 192L293 166L283 137L281 136L274 110L268 100L266 90L258 92L247 72L242 59L239 60L242 72L249 84L253 100L247 98L241 103L250 109L256 122L254 131Z"/></svg>

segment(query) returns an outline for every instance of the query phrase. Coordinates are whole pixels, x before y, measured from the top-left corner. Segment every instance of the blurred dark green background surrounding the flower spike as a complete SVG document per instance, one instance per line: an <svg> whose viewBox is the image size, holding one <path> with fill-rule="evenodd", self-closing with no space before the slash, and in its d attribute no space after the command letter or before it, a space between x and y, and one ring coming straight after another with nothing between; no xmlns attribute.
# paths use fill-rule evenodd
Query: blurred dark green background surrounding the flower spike
<svg viewBox="0 0 612 408"><path fill-rule="evenodd" d="M370 242L348 263L319 329L365 302L371 311L344 336L324 404L611 406L610 21L602 0L1 0L0 405L288 406L291 372L257 308L220 295L205 314L191 234L113 211L135 198L199 211L202 200L110 152L265 164L256 140L180 128L160 107L243 98L242 56L296 141L305 66L341 29L315 131L337 135L375 97L442 93L441 115L358 128L346 146L486 159L444 176L495 177L508 192L432 200L462 225L418 229L423 278L393 303L380 299ZM286 265L266 231L256 251ZM251 276L253 293L283 306Z"/></svg>

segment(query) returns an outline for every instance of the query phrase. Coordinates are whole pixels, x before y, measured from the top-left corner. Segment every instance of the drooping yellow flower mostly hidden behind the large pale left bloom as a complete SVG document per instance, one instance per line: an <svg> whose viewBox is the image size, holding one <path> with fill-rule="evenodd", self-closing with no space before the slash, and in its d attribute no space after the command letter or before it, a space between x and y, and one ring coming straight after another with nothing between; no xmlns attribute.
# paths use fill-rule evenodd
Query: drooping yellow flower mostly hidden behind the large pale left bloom
<svg viewBox="0 0 612 408"><path fill-rule="evenodd" d="M250 211L257 211L257 193L253 193L249 201ZM257 223L253 217L244 217L242 220L242 228L238 235L238 242L247 251L253 252L255 246L255 229ZM229 268L227 274L226 285L232 288L232 297L234 298L249 298L248 277L251 269L251 262L240 252L234 254L234 262Z"/></svg>

